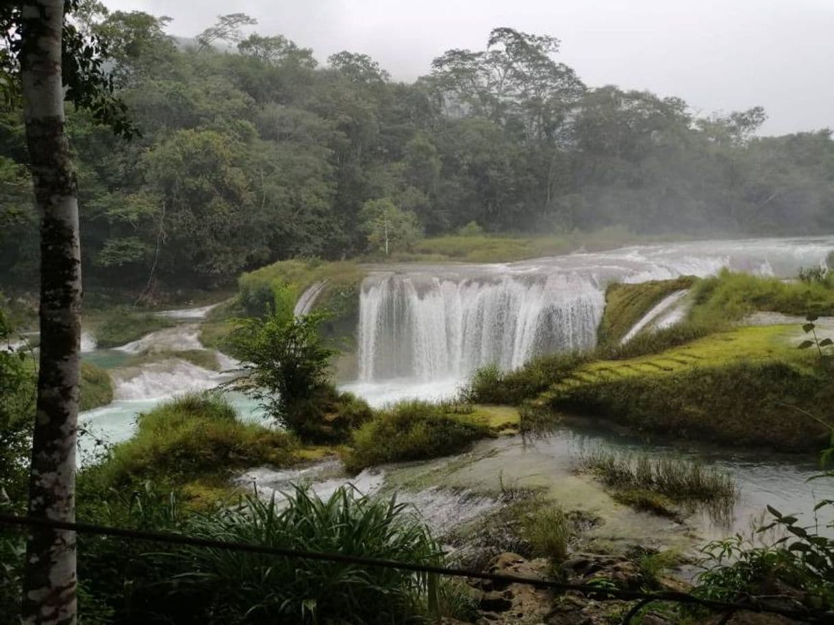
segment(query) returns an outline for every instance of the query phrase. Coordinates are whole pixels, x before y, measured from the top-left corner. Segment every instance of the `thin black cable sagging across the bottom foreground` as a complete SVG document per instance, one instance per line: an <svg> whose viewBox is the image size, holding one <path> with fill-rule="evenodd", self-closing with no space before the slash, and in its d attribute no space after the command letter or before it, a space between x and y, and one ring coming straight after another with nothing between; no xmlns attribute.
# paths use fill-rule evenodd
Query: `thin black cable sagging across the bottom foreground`
<svg viewBox="0 0 834 625"><path fill-rule="evenodd" d="M190 547L208 547L213 549L229 549L233 551L260 553L264 555L293 557L303 560L319 560L324 562L340 562L344 564L360 564L366 567L394 568L400 571L432 573L445 575L447 577L469 577L471 579L483 579L491 582L519 583L528 586L560 591L581 592L585 595L598 595L597 598L611 598L623 600L648 600L648 601L670 601L677 603L688 603L708 607L716 612L746 611L766 612L779 614L784 617L799 618L810 622L831 623L834 622L834 612L826 611L805 611L780 607L764 606L756 602L728 603L713 601L695 597L686 592L661 591L661 592L639 592L624 590L621 588L599 587L594 584L570 584L551 582L535 577L517 577L515 575L503 575L501 573L480 572L465 568L435 567L429 564L416 564L414 562L399 562L397 560L386 560L377 557L353 556L344 553L327 553L306 551L303 549L291 549L288 547L266 547L248 542L224 542L211 538L198 538L175 534L170 532L145 532L123 527L108 527L95 525L93 523L56 521L45 517L19 517L9 514L0 514L0 523L6 525L18 525L24 527L38 527L41 529L62 529L69 532L83 534L99 534L103 536L116 536L145 540L149 542L165 542L168 544L188 545Z"/></svg>

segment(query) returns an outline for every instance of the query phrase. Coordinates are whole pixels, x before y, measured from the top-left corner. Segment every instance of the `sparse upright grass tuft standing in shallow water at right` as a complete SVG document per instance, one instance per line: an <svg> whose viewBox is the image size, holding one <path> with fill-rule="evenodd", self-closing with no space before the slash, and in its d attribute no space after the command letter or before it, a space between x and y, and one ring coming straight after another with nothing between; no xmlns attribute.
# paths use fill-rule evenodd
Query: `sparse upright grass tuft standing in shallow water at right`
<svg viewBox="0 0 834 625"><path fill-rule="evenodd" d="M679 456L651 457L600 447L581 453L577 465L636 507L653 507L646 493L672 502L717 504L716 511L730 508L738 498L738 486L730 475Z"/></svg>

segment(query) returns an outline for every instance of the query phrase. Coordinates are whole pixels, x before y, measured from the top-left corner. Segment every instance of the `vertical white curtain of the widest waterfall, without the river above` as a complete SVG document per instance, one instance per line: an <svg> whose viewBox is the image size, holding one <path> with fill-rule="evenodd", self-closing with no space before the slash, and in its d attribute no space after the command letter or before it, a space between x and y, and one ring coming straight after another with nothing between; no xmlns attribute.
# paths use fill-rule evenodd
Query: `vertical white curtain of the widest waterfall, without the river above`
<svg viewBox="0 0 834 625"><path fill-rule="evenodd" d="M460 378L592 348L605 298L572 273L437 278L379 273L359 303L359 378Z"/></svg>

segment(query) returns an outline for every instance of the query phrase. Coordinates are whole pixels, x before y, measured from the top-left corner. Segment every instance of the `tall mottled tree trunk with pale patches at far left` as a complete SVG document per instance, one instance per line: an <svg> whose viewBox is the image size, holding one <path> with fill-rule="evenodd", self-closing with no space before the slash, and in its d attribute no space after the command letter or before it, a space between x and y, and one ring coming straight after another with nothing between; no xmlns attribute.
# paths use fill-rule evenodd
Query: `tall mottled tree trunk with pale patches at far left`
<svg viewBox="0 0 834 625"><path fill-rule="evenodd" d="M78 188L64 134L63 0L22 2L23 113L41 216L40 368L29 514L75 519L75 449L81 335ZM23 577L23 622L76 622L75 533L35 529Z"/></svg>

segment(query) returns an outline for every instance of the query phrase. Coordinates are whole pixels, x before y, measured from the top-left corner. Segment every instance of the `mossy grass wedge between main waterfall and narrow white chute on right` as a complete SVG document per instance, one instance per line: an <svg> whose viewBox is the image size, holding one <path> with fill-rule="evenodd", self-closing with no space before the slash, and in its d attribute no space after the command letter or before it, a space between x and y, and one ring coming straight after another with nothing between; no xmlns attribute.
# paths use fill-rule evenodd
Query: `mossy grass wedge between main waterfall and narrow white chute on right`
<svg viewBox="0 0 834 625"><path fill-rule="evenodd" d="M696 278L684 276L639 284L610 284L605 290L605 313L597 328L598 343L619 344L629 330L663 298L691 288L695 281Z"/></svg>

